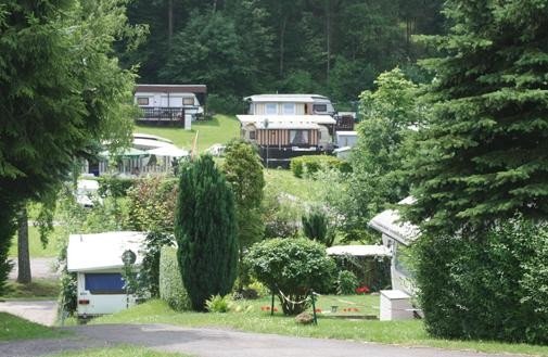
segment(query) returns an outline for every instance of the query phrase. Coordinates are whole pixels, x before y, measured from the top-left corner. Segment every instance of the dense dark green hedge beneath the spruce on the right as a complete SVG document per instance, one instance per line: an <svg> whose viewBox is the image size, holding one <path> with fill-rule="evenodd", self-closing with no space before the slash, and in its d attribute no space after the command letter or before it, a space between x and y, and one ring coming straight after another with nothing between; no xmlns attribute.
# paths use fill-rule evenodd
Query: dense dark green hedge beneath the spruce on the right
<svg viewBox="0 0 548 357"><path fill-rule="evenodd" d="M418 242L417 281L435 336L548 343L548 226L522 217L482 238L428 235Z"/></svg>

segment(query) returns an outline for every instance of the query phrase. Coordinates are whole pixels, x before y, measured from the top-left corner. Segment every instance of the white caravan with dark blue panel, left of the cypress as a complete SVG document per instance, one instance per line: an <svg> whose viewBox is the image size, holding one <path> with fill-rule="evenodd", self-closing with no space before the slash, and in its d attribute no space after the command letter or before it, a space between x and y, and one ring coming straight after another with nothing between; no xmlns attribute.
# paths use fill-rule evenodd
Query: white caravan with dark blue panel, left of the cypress
<svg viewBox="0 0 548 357"><path fill-rule="evenodd" d="M136 304L136 297L126 294L123 255L131 251L132 266L138 269L144 239L145 233L132 231L71 234L66 259L67 270L77 275L78 318L113 314Z"/></svg>

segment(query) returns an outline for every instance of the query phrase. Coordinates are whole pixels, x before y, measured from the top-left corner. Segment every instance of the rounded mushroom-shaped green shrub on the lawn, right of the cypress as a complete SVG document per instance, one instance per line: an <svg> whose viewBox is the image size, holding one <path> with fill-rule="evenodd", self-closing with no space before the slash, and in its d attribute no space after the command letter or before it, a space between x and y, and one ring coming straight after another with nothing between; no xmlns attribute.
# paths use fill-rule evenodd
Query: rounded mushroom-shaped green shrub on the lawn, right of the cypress
<svg viewBox="0 0 548 357"><path fill-rule="evenodd" d="M278 295L285 315L302 313L302 302L310 290L329 291L333 284L334 262L326 246L308 239L271 239L256 243L247 259L256 279ZM285 297L284 297L285 296Z"/></svg>

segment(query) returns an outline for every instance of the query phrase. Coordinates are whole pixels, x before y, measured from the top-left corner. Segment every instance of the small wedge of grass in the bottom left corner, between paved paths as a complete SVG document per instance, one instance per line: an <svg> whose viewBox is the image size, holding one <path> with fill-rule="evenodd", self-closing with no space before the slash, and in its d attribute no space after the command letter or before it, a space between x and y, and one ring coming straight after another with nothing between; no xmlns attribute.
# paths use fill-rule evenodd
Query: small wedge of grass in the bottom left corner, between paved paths
<svg viewBox="0 0 548 357"><path fill-rule="evenodd" d="M0 341L54 339L68 334L67 331L47 328L7 313L0 313Z"/></svg>

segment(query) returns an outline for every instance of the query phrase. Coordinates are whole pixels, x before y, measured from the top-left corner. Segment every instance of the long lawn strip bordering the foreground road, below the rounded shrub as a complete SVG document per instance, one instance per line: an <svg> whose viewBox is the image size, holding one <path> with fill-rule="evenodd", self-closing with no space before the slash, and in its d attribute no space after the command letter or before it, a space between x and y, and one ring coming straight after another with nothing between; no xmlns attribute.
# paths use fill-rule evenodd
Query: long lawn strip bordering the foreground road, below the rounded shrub
<svg viewBox="0 0 548 357"><path fill-rule="evenodd" d="M333 296L335 297L335 296ZM339 298L339 297L336 297ZM369 297L378 298L377 297ZM331 302L323 297L323 310L330 309ZM342 299L346 299L342 297ZM366 299L364 305L371 303ZM513 353L548 356L548 346L507 344L477 341L448 341L433 339L426 334L421 320L378 321L365 319L327 318L319 316L318 326L297 324L292 317L285 317L278 307L273 317L264 310L270 305L268 297L241 304L237 311L228 314L176 313L161 301L148 302L129 310L99 318L91 323L171 323L187 327L224 327L242 331L277 333L294 336L328 337L379 342L411 346L433 346L451 349L472 349L486 353ZM340 305L341 308L343 305ZM263 307L263 310L262 310Z"/></svg>

